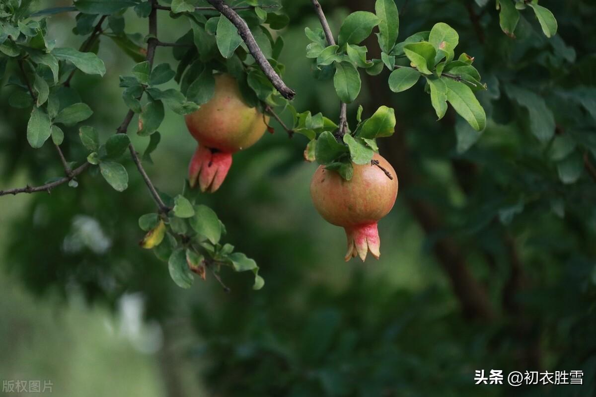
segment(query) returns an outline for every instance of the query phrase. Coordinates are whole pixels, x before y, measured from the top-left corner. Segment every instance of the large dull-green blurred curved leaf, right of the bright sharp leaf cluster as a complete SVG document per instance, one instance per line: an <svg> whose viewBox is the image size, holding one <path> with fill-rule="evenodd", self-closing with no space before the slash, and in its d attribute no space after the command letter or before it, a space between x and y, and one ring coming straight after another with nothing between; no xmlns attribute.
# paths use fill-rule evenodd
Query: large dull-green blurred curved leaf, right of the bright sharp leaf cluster
<svg viewBox="0 0 596 397"><path fill-rule="evenodd" d="M528 89L508 84L505 86L507 95L529 112L530 131L541 142L547 142L555 133L555 118L547 103L540 95Z"/></svg>

